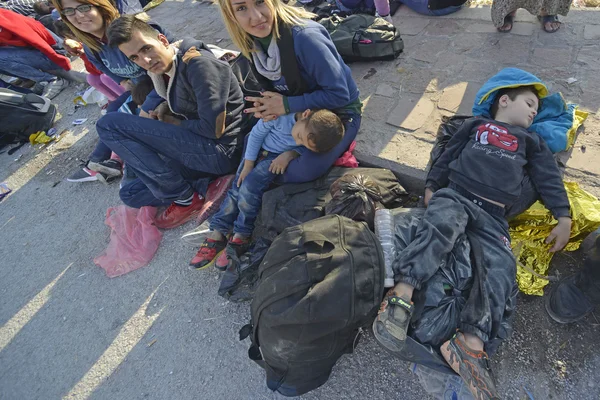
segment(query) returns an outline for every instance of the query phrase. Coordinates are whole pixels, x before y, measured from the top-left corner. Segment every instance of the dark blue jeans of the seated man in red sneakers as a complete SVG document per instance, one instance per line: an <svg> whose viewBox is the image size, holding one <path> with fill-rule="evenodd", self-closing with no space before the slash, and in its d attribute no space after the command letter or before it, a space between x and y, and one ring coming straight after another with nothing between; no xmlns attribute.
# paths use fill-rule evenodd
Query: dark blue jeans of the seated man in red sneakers
<svg viewBox="0 0 600 400"><path fill-rule="evenodd" d="M194 192L205 195L209 181L231 173L239 160L235 146L137 115L106 114L96 130L137 175L120 193L131 207L168 204Z"/></svg>

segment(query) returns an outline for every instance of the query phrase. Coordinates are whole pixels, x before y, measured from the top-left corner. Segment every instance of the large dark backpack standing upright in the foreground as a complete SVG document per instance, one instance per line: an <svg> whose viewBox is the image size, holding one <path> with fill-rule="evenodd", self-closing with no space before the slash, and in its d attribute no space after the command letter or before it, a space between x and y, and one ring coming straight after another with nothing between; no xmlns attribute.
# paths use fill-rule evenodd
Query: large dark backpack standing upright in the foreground
<svg viewBox="0 0 600 400"><path fill-rule="evenodd" d="M351 353L383 297L383 252L366 223L328 215L286 229L259 267L248 356L267 386L298 396L323 385Z"/></svg>

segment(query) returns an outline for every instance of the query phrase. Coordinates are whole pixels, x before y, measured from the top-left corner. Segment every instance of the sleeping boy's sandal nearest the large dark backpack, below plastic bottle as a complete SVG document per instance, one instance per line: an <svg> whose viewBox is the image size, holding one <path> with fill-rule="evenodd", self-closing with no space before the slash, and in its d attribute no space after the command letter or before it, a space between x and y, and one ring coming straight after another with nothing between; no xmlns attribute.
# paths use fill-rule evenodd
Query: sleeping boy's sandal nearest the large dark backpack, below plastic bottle
<svg viewBox="0 0 600 400"><path fill-rule="evenodd" d="M404 349L406 332L413 313L413 304L392 290L381 303L379 314L373 321L375 340L392 354L398 355Z"/></svg>

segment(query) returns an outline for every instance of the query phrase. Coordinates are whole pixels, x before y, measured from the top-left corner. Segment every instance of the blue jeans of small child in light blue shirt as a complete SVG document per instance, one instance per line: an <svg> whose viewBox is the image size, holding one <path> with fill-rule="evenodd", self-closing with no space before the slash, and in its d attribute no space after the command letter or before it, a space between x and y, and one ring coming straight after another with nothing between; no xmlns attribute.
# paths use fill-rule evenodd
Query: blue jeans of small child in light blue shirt
<svg viewBox="0 0 600 400"><path fill-rule="evenodd" d="M254 222L260 212L262 195L276 176L269 171L269 166L278 155L261 151L256 165L238 188L237 181L244 168L244 160L242 160L231 189L227 192L227 197L219 211L210 220L211 230L227 235L233 227L234 233L246 237L252 235Z"/></svg>

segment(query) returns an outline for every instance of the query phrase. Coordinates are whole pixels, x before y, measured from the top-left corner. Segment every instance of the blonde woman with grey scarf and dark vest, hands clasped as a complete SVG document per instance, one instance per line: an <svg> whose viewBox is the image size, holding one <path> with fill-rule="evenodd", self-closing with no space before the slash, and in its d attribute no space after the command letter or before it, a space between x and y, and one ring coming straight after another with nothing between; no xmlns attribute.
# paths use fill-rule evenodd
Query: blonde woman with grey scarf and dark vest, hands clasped
<svg viewBox="0 0 600 400"><path fill-rule="evenodd" d="M281 0L219 0L233 42L250 60L263 88L245 113L272 120L307 109L329 109L344 121L341 143L327 153L295 154L282 183L323 175L355 139L362 103L350 68L313 14Z"/></svg>

